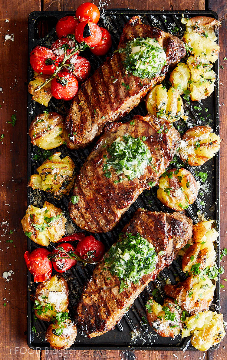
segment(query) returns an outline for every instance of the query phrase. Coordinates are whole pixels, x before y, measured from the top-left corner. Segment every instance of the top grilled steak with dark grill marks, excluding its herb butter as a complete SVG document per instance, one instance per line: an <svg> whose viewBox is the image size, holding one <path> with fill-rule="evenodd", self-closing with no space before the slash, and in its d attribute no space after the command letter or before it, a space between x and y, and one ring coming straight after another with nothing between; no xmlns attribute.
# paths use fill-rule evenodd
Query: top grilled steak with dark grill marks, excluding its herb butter
<svg viewBox="0 0 227 360"><path fill-rule="evenodd" d="M84 147L103 131L107 122L124 116L152 89L161 82L171 64L177 63L186 54L185 46L176 36L144 25L139 17L133 17L121 35L119 48L125 48L134 38L156 39L166 49L166 65L159 76L139 78L127 74L124 53L114 53L85 81L71 105L65 122L64 137L71 149ZM69 138L68 138L69 136Z"/></svg>

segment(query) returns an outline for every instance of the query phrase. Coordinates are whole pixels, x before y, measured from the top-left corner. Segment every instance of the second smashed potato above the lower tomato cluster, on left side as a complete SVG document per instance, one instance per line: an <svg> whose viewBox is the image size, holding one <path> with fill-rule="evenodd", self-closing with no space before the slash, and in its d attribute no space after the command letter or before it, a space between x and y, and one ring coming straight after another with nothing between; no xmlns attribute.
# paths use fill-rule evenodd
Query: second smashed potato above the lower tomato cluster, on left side
<svg viewBox="0 0 227 360"><path fill-rule="evenodd" d="M60 158L57 152L37 168L38 174L31 175L28 186L32 189L49 191L56 198L68 194L75 181L75 164L69 156Z"/></svg>

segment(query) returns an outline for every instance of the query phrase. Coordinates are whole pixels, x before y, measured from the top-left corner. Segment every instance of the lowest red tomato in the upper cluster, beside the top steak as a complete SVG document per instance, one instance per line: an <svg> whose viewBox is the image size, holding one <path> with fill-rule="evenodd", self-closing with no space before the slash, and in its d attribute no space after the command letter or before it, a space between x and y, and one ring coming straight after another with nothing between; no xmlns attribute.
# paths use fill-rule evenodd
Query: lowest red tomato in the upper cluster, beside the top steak
<svg viewBox="0 0 227 360"><path fill-rule="evenodd" d="M59 72L57 77L51 80L51 94L56 99L71 100L77 94L78 81L73 74Z"/></svg>

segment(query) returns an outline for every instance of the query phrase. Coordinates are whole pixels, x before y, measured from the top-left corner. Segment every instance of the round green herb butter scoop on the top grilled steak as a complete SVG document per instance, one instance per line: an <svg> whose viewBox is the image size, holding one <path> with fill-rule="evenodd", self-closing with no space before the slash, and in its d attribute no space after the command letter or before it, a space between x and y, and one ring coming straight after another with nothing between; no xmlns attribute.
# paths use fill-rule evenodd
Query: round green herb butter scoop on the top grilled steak
<svg viewBox="0 0 227 360"><path fill-rule="evenodd" d="M125 49L125 67L128 72L140 78L152 78L166 65L166 53L156 39L137 37L127 43Z"/></svg>

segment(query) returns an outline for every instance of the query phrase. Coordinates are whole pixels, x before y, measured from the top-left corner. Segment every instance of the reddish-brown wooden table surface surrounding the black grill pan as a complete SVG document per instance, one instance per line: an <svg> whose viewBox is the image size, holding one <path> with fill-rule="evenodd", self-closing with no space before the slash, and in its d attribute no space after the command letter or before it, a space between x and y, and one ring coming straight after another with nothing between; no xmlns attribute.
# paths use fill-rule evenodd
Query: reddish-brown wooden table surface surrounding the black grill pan
<svg viewBox="0 0 227 360"><path fill-rule="evenodd" d="M149 10L204 10L218 13L222 27L219 31L220 66L220 135L221 143L221 249L226 246L227 236L227 3L226 0L98 0L96 5L108 8L131 8ZM12 270L6 281L0 280L0 354L4 360L79 360L79 359L227 359L227 336L218 350L207 351L32 351L26 343L26 266L23 254L26 250L26 237L23 234L20 220L26 211L27 185L27 22L28 15L34 10L75 10L79 0L1 0L0 36L0 274ZM8 39L10 35L10 39ZM6 36L6 39L5 39ZM9 121L16 114L17 122L13 127ZM3 136L1 135L4 135ZM12 231L10 231L12 230ZM13 242L9 242L13 240ZM222 265L225 267L224 260ZM227 271L227 266L225 267ZM226 273L221 278L226 278ZM225 281L222 283L227 284ZM227 300L224 289L221 289L221 312L227 321Z"/></svg>

